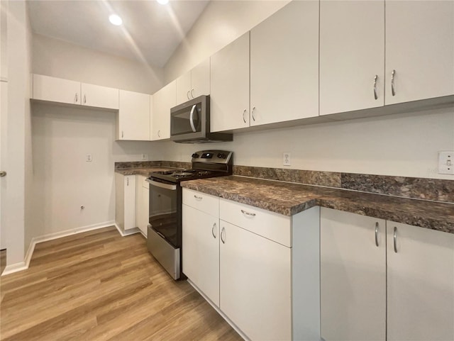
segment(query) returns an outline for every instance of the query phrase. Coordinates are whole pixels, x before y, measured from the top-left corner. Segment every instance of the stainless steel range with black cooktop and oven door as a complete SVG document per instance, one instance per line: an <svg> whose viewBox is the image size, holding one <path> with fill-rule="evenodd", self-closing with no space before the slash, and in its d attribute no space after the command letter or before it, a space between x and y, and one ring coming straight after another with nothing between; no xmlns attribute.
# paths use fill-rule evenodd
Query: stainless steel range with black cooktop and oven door
<svg viewBox="0 0 454 341"><path fill-rule="evenodd" d="M174 279L182 277L182 187L180 181L232 174L233 153L201 150L192 155L192 168L155 172L148 177L150 208L147 246Z"/></svg>

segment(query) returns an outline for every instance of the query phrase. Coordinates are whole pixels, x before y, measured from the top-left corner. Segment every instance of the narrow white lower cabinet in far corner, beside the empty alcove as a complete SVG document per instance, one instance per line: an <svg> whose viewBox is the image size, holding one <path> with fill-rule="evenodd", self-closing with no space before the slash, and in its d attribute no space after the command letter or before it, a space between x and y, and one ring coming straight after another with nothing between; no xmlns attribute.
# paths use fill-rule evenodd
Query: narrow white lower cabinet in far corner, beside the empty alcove
<svg viewBox="0 0 454 341"><path fill-rule="evenodd" d="M135 175L115 173L115 223L121 230L135 228Z"/></svg>

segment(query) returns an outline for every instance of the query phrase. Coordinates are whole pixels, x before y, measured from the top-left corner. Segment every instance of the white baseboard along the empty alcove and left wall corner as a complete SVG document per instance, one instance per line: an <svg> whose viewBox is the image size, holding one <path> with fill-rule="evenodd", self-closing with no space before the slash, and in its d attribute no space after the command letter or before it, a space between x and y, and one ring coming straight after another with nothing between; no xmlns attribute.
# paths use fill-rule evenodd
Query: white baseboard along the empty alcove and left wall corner
<svg viewBox="0 0 454 341"><path fill-rule="evenodd" d="M87 231L91 231L91 230L97 230L99 228L107 228L107 227L113 226L113 225L116 226L116 223L114 222L114 220L111 220L111 221L106 221L104 223L81 226L79 228L72 228L71 230L49 233L48 235L40 235L39 237L33 237L31 239L30 245L28 245L26 257L23 259L23 262L7 265L4 269L4 272L1 273L1 276L4 276L6 274L13 274L14 272L19 272L19 271L28 269L28 266L30 265L31 257L33 256L33 251L35 251L35 245L38 244L38 242L48 242L49 240L67 237L68 235L75 235L77 233L87 232ZM116 226L116 228L118 229L117 226ZM120 233L120 234L123 235L122 233Z"/></svg>

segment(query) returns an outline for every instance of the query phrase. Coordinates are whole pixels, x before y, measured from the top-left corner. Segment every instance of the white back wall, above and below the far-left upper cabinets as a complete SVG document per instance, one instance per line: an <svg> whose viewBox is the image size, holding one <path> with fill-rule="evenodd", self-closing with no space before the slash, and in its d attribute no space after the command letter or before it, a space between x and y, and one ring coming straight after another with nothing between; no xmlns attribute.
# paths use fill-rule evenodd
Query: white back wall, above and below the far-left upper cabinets
<svg viewBox="0 0 454 341"><path fill-rule="evenodd" d="M162 84L162 69L33 38L34 73L149 94ZM113 221L114 162L161 158L158 142L115 141L116 113L36 103L32 111L33 237Z"/></svg>

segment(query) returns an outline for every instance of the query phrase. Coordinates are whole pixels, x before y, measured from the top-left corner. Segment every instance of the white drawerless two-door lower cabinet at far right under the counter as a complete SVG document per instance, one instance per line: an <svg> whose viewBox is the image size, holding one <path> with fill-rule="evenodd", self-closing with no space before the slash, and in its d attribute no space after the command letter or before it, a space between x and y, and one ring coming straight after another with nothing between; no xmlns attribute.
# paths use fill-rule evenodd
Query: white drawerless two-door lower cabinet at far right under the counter
<svg viewBox="0 0 454 341"><path fill-rule="evenodd" d="M453 234L331 208L320 228L324 340L454 340Z"/></svg>

